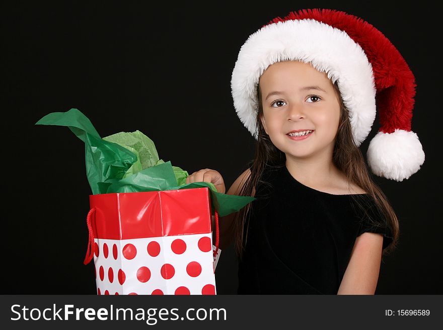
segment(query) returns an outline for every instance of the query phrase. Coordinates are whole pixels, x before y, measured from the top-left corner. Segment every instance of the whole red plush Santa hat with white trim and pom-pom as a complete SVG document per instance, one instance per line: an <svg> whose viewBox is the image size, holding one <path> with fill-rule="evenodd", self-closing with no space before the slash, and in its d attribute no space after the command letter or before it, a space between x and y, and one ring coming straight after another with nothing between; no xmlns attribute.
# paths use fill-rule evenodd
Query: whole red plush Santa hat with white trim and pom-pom
<svg viewBox="0 0 443 330"><path fill-rule="evenodd" d="M371 132L377 100L381 127L367 150L374 174L402 181L419 170L424 152L411 131L415 78L379 30L344 12L313 9L277 17L250 35L231 88L237 115L255 139L258 80L268 66L284 60L311 63L337 81L357 146Z"/></svg>

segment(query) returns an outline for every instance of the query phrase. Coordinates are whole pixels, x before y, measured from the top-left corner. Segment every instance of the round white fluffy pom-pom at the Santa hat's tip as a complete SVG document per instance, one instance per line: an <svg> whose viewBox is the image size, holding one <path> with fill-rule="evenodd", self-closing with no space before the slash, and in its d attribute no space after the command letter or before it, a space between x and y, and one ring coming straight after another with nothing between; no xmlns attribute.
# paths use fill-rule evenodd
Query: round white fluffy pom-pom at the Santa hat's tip
<svg viewBox="0 0 443 330"><path fill-rule="evenodd" d="M399 129L393 133L377 133L366 156L374 174L396 181L409 178L424 162L417 134Z"/></svg>

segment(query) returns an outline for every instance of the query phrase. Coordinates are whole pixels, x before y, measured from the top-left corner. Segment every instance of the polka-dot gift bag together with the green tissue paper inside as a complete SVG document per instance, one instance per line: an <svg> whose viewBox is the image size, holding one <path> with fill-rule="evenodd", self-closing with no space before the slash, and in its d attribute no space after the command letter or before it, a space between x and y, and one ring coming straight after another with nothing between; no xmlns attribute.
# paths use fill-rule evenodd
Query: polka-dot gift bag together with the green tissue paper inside
<svg viewBox="0 0 443 330"><path fill-rule="evenodd" d="M93 194L84 263L94 258L98 294L215 294L218 214L237 212L254 197L186 183L188 172L160 159L149 137L137 130L102 139L76 108L36 125L68 127L85 143ZM63 189L76 184L69 173L64 177Z"/></svg>

